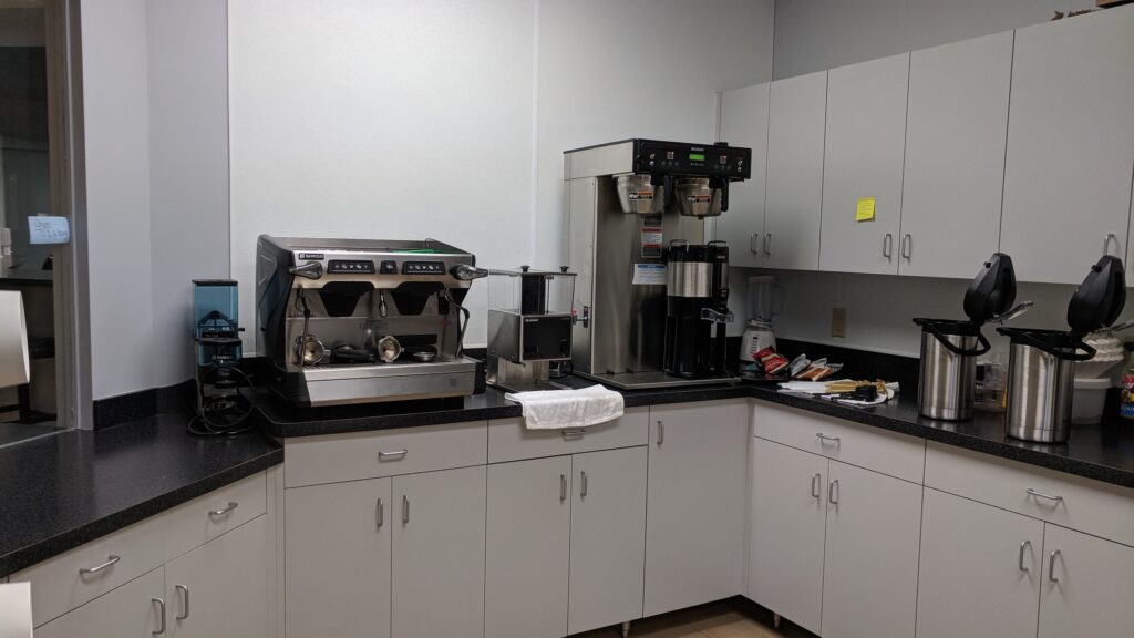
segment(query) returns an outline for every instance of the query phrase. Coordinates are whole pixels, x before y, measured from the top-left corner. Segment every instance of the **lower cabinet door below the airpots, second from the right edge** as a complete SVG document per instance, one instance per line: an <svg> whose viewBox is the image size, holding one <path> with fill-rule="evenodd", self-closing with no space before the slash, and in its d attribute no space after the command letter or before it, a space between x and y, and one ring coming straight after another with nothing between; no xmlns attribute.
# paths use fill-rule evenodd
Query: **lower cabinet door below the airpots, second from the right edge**
<svg viewBox="0 0 1134 638"><path fill-rule="evenodd" d="M1034 638L1043 522L925 489L917 638Z"/></svg>

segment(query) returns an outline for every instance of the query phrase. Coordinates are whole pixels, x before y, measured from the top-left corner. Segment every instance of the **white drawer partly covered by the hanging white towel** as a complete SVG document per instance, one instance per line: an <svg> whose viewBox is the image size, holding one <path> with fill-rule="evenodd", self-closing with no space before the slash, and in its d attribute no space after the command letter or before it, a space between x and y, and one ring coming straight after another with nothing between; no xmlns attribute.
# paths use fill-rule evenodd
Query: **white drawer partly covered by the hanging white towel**
<svg viewBox="0 0 1134 638"><path fill-rule="evenodd" d="M493 420L489 422L489 462L645 445L650 438L649 414L649 408L631 408L613 421L566 430L530 430L523 418Z"/></svg>

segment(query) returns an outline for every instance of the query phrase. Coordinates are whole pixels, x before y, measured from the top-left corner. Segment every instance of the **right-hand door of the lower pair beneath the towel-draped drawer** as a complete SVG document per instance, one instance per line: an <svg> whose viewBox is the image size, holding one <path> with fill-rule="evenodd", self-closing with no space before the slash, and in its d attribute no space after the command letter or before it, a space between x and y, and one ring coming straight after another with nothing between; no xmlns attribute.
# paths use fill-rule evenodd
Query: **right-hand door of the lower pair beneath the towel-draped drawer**
<svg viewBox="0 0 1134 638"><path fill-rule="evenodd" d="M570 633L642 618L645 447L576 454L570 518Z"/></svg>

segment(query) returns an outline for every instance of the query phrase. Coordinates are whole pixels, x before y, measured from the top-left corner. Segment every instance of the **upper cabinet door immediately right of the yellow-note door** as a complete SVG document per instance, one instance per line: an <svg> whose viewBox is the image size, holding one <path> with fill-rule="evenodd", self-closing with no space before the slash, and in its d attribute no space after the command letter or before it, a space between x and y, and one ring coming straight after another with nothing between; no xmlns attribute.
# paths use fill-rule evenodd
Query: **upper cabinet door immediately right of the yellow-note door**
<svg viewBox="0 0 1134 638"><path fill-rule="evenodd" d="M909 59L898 271L972 277L1000 245L1013 33Z"/></svg>

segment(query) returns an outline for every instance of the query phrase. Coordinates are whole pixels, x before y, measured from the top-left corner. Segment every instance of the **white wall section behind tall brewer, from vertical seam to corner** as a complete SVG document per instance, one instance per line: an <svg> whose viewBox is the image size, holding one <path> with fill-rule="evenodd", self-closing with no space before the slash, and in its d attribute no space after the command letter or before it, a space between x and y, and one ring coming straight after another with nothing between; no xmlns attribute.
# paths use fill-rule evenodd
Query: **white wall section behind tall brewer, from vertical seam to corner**
<svg viewBox="0 0 1134 638"><path fill-rule="evenodd" d="M771 0L574 0L539 11L533 261L561 263L562 153L712 141L713 92L771 79Z"/></svg>

